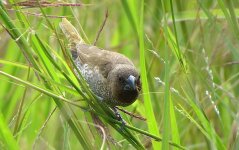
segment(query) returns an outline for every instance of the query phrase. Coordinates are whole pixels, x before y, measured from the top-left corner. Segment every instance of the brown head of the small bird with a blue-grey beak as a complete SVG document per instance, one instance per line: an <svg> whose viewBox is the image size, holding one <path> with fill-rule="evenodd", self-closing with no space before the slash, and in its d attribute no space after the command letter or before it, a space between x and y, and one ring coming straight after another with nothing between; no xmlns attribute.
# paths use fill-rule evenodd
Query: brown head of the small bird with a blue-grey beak
<svg viewBox="0 0 239 150"><path fill-rule="evenodd" d="M141 90L140 75L134 66L118 65L109 76L110 89L114 100L122 106L132 104Z"/></svg>

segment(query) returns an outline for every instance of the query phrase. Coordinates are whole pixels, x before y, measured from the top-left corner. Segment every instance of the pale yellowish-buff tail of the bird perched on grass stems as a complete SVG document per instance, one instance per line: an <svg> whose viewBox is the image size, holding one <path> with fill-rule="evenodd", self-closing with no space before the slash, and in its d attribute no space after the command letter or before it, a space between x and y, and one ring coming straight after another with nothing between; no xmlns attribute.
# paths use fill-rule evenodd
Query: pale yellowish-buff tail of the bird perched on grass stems
<svg viewBox="0 0 239 150"><path fill-rule="evenodd" d="M80 43L85 43L81 38L76 28L66 19L63 18L59 24L62 32L65 34L66 38L70 42L71 51L76 51L76 45Z"/></svg>

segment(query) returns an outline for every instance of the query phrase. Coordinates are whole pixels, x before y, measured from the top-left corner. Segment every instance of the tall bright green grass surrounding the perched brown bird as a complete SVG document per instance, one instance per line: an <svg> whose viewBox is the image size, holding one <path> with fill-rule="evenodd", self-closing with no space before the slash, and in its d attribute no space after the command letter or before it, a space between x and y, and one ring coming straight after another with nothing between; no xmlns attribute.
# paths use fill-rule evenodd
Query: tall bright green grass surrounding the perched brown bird
<svg viewBox="0 0 239 150"><path fill-rule="evenodd" d="M237 1L16 2L0 1L0 149L239 148ZM59 28L64 16L92 44L107 9L97 46L141 73L124 109L147 120L121 112L124 127L72 71Z"/></svg>

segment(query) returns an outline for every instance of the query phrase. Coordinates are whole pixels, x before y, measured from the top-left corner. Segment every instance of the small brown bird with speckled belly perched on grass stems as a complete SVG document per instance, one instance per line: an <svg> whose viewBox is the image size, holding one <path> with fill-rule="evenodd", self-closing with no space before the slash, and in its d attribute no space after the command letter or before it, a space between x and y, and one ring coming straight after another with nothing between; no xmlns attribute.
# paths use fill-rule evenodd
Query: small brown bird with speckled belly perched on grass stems
<svg viewBox="0 0 239 150"><path fill-rule="evenodd" d="M129 106L141 91L140 73L126 56L87 44L63 18L59 24L69 41L74 63L95 95L113 108Z"/></svg>

